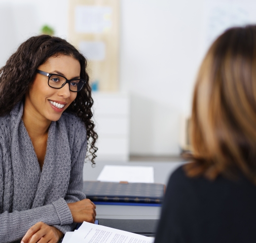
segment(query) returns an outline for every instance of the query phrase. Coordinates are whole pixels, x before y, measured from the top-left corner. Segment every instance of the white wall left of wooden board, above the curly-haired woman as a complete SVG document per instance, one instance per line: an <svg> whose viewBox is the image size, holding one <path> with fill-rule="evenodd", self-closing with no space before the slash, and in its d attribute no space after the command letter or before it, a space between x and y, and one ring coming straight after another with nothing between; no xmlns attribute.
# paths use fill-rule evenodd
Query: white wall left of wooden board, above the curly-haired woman
<svg viewBox="0 0 256 243"><path fill-rule="evenodd" d="M39 34L43 25L67 36L67 0L0 0L0 66L28 37ZM57 10L57 11L56 11Z"/></svg>

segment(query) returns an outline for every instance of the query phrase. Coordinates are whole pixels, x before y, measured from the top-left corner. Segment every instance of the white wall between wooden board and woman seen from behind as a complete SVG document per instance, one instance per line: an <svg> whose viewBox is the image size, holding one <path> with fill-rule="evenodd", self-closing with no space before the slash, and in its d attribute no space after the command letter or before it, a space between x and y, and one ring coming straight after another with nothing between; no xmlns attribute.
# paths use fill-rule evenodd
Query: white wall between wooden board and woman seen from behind
<svg viewBox="0 0 256 243"><path fill-rule="evenodd" d="M121 89L131 93L133 154L178 154L200 53L202 1L124 0Z"/></svg>

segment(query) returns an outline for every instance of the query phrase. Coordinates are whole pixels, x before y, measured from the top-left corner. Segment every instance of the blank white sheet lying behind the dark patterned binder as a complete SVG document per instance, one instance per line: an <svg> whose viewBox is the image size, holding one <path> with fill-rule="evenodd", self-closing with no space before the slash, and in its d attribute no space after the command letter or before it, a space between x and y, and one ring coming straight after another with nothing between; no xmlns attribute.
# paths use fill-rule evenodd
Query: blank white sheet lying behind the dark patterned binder
<svg viewBox="0 0 256 243"><path fill-rule="evenodd" d="M147 166L104 166L97 180L154 183L154 168Z"/></svg>

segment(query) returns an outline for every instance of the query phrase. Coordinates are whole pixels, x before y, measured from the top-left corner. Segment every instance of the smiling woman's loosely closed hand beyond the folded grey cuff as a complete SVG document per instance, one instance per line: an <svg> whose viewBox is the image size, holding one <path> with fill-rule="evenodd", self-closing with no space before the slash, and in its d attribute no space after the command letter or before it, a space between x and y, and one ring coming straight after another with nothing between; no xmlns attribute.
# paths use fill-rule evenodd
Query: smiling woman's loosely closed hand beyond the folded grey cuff
<svg viewBox="0 0 256 243"><path fill-rule="evenodd" d="M75 223L84 221L94 223L96 217L96 206L90 199L83 199L76 203L67 204Z"/></svg>

